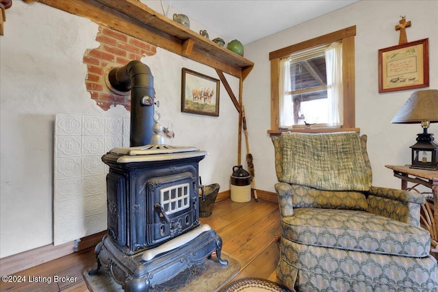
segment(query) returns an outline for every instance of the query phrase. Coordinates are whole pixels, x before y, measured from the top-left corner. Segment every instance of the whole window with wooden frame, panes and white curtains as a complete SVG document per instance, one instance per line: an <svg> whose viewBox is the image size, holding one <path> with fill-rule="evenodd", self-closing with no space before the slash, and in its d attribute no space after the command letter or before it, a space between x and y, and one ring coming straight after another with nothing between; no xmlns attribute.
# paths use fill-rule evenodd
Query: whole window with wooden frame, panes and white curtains
<svg viewBox="0 0 438 292"><path fill-rule="evenodd" d="M270 53L269 133L357 131L355 34L348 27Z"/></svg>

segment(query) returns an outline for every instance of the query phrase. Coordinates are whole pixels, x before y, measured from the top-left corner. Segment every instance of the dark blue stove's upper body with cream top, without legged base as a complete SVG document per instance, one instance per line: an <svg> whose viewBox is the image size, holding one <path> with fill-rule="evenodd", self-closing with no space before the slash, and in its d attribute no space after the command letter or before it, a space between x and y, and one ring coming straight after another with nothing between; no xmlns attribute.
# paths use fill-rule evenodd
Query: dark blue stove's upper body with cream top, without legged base
<svg viewBox="0 0 438 292"><path fill-rule="evenodd" d="M168 149L175 152L166 153ZM127 254L198 226L198 161L205 157L205 152L192 148L133 152L113 149L102 157L110 166L108 233Z"/></svg>

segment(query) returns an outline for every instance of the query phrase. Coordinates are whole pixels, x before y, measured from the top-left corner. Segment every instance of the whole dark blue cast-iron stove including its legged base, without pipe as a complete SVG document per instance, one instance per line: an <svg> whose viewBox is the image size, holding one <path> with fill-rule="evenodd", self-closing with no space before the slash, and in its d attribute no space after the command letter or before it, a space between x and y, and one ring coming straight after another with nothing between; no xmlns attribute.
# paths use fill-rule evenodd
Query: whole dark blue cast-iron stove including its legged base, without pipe
<svg viewBox="0 0 438 292"><path fill-rule="evenodd" d="M198 162L207 152L152 144L114 148L103 155L108 232L96 245L101 267L125 291L149 291L216 252L222 239L199 222Z"/></svg>

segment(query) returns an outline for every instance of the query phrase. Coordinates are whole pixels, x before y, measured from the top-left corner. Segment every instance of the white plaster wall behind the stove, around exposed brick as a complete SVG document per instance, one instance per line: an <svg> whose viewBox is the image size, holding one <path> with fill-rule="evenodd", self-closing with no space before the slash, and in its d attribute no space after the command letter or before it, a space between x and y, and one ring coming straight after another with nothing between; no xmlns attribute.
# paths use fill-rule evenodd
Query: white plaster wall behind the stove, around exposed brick
<svg viewBox="0 0 438 292"><path fill-rule="evenodd" d="M0 258L53 242L55 114L129 116L121 106L103 111L86 91L82 58L87 49L99 46L94 40L98 25L23 1L14 1L6 19L0 36ZM209 152L200 164L203 183L229 189L237 161L238 116L227 91L221 84L219 117L181 113L181 68L218 79L216 71L163 49L142 62L154 76L158 111L174 126L176 136L168 144ZM238 79L227 79L238 92Z"/></svg>

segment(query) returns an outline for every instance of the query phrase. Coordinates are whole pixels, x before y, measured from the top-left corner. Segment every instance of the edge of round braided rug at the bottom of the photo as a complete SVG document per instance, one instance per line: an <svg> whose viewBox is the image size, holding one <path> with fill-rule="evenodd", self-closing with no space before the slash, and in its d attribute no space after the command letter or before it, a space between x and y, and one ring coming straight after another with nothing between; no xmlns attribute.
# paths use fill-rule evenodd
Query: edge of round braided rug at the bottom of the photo
<svg viewBox="0 0 438 292"><path fill-rule="evenodd" d="M281 284L261 278L243 278L227 285L220 292L291 292Z"/></svg>

